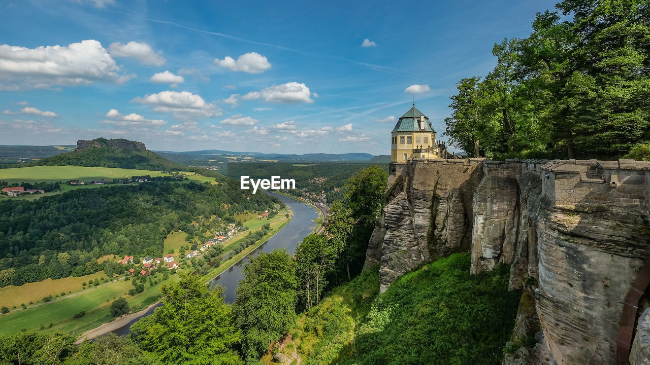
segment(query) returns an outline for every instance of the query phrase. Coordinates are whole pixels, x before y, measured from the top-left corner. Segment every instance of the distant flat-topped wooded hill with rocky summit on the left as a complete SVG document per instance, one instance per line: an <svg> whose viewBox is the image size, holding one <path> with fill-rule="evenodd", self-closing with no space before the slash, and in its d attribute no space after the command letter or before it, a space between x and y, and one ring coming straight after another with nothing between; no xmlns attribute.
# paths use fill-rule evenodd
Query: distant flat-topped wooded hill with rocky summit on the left
<svg viewBox="0 0 650 365"><path fill-rule="evenodd" d="M42 160L25 164L5 165L5 168L44 165L95 166L154 171L183 171L186 166L177 164L144 147L142 142L122 138L107 140L79 140L77 148Z"/></svg>

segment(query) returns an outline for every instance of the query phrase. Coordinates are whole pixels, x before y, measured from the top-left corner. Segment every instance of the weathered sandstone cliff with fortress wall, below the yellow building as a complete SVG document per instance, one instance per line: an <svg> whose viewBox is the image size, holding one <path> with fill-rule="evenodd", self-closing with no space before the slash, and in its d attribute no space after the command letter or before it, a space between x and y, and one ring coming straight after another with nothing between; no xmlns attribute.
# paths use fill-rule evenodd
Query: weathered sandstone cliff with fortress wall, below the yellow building
<svg viewBox="0 0 650 365"><path fill-rule="evenodd" d="M623 298L650 254L650 162L411 160L391 164L388 191L367 254L382 290L452 252L470 252L473 273L508 264L534 308L513 343L537 344L505 363L616 364Z"/></svg>

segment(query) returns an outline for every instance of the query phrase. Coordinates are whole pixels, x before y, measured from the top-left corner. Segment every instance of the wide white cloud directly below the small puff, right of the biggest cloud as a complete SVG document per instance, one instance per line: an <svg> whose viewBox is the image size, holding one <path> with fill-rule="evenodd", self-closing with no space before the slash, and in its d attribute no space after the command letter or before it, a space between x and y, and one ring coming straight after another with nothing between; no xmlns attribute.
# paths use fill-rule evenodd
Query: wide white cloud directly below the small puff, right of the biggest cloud
<svg viewBox="0 0 650 365"><path fill-rule="evenodd" d="M164 91L136 97L135 103L147 104L156 112L172 113L179 120L212 118L220 116L221 110L214 103L206 103L200 95L191 92Z"/></svg>

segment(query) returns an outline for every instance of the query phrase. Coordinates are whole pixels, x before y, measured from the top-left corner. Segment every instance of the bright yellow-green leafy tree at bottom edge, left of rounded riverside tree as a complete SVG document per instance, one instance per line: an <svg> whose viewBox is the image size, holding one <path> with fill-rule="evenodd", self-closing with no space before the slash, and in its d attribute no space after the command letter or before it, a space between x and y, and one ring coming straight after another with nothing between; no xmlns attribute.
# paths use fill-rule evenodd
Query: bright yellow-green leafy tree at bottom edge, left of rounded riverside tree
<svg viewBox="0 0 650 365"><path fill-rule="evenodd" d="M163 284L162 306L131 326L140 346L166 364L239 364L240 340L224 289L210 290L199 276L179 274Z"/></svg>

